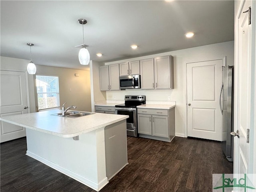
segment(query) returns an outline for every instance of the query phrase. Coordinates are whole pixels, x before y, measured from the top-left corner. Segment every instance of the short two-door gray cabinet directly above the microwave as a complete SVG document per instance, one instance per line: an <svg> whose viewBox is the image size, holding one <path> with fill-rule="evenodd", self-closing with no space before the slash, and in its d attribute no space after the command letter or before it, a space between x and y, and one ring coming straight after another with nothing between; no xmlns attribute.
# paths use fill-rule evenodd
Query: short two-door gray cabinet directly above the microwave
<svg viewBox="0 0 256 192"><path fill-rule="evenodd" d="M140 62L131 61L119 64L120 76L140 74Z"/></svg>

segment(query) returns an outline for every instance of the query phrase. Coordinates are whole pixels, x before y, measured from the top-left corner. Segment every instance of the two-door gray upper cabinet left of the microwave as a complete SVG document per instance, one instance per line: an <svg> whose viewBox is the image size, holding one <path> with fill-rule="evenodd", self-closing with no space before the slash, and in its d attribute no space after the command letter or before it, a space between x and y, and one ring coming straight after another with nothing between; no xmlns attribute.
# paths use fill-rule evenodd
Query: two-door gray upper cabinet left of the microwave
<svg viewBox="0 0 256 192"><path fill-rule="evenodd" d="M100 90L120 90L118 64L100 66Z"/></svg>

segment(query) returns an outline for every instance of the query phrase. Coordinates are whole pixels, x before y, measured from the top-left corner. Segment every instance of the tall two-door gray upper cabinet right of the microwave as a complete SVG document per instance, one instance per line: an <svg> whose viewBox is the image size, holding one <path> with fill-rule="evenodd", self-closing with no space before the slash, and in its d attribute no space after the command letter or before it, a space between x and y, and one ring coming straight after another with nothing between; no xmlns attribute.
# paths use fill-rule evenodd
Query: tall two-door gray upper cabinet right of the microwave
<svg viewBox="0 0 256 192"><path fill-rule="evenodd" d="M142 89L173 89L173 56L140 60Z"/></svg>

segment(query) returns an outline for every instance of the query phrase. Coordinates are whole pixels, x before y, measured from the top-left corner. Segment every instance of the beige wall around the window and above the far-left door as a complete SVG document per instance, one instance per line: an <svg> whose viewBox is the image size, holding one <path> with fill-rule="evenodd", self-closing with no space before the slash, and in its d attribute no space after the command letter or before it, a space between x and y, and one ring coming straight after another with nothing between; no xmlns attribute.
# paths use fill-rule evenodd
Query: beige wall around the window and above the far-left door
<svg viewBox="0 0 256 192"><path fill-rule="evenodd" d="M30 60L0 57L0 69L25 71ZM80 74L79 77L74 76ZM60 104L75 105L77 110L91 111L90 72L67 68L36 65L36 74L57 75L60 86ZM28 74L30 112L36 112L34 76ZM71 91L70 91L71 89Z"/></svg>

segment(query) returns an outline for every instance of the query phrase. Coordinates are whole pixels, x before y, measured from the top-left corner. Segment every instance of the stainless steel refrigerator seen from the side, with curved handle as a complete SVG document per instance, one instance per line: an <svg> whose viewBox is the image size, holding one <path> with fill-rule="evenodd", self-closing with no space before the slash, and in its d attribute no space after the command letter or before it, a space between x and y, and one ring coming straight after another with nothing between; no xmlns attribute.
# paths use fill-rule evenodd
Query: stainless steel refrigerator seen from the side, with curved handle
<svg viewBox="0 0 256 192"><path fill-rule="evenodd" d="M222 112L222 129L224 141L222 150L228 161L233 161L234 139L234 66L222 67L222 86L220 88L220 110Z"/></svg>

